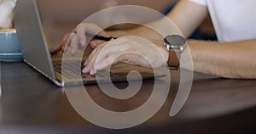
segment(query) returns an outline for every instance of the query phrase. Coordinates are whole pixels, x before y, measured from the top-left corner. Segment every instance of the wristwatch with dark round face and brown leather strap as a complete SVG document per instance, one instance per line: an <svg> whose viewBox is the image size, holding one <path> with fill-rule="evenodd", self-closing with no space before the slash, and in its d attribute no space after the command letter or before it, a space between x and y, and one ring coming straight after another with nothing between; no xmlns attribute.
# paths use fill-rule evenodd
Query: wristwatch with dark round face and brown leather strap
<svg viewBox="0 0 256 134"><path fill-rule="evenodd" d="M180 54L187 46L186 40L183 36L170 35L164 38L164 45L169 51L168 66L170 69L177 70L179 67Z"/></svg>

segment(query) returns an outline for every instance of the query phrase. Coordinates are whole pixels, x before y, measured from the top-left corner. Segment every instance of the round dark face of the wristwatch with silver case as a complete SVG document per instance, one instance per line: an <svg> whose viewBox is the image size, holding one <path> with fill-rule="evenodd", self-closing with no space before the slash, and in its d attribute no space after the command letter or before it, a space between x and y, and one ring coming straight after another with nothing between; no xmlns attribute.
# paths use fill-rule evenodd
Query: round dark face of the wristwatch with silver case
<svg viewBox="0 0 256 134"><path fill-rule="evenodd" d="M165 37L165 44L167 49L183 51L183 48L186 46L186 40L183 36L179 35L170 35Z"/></svg>

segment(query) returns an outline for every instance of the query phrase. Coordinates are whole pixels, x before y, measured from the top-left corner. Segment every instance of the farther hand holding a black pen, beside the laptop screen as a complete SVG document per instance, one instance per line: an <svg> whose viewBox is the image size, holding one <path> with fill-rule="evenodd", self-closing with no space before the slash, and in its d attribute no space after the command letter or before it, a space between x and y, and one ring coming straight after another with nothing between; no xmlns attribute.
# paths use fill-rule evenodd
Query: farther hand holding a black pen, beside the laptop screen
<svg viewBox="0 0 256 134"><path fill-rule="evenodd" d="M87 47L86 42L88 41L85 36L87 32L99 36L108 36L98 25L82 23L79 24L72 33L66 34L56 49L62 49L62 52L67 52L67 48L70 47L71 53L76 54L79 47ZM103 42L105 41L92 39L89 45L90 48L94 49Z"/></svg>

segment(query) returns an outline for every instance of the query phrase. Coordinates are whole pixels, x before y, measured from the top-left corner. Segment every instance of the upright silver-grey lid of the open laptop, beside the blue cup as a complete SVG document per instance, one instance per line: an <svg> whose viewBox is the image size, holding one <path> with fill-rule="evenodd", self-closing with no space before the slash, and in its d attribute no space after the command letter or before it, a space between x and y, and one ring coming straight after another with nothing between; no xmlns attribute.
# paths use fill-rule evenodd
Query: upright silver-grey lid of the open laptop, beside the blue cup
<svg viewBox="0 0 256 134"><path fill-rule="evenodd" d="M55 81L55 71L44 36L37 0L17 1L14 18L25 62Z"/></svg>

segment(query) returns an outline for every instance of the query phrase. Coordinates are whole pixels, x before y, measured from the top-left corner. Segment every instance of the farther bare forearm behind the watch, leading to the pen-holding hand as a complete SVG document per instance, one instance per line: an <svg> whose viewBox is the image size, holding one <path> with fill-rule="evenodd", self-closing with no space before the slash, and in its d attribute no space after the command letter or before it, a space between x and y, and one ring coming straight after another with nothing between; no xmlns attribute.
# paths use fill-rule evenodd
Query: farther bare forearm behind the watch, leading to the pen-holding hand
<svg viewBox="0 0 256 134"><path fill-rule="evenodd" d="M189 37L207 17L207 7L188 0L177 3L172 12L145 25L127 31L112 31L111 36L141 36L148 40L162 40L164 36L177 34Z"/></svg>

